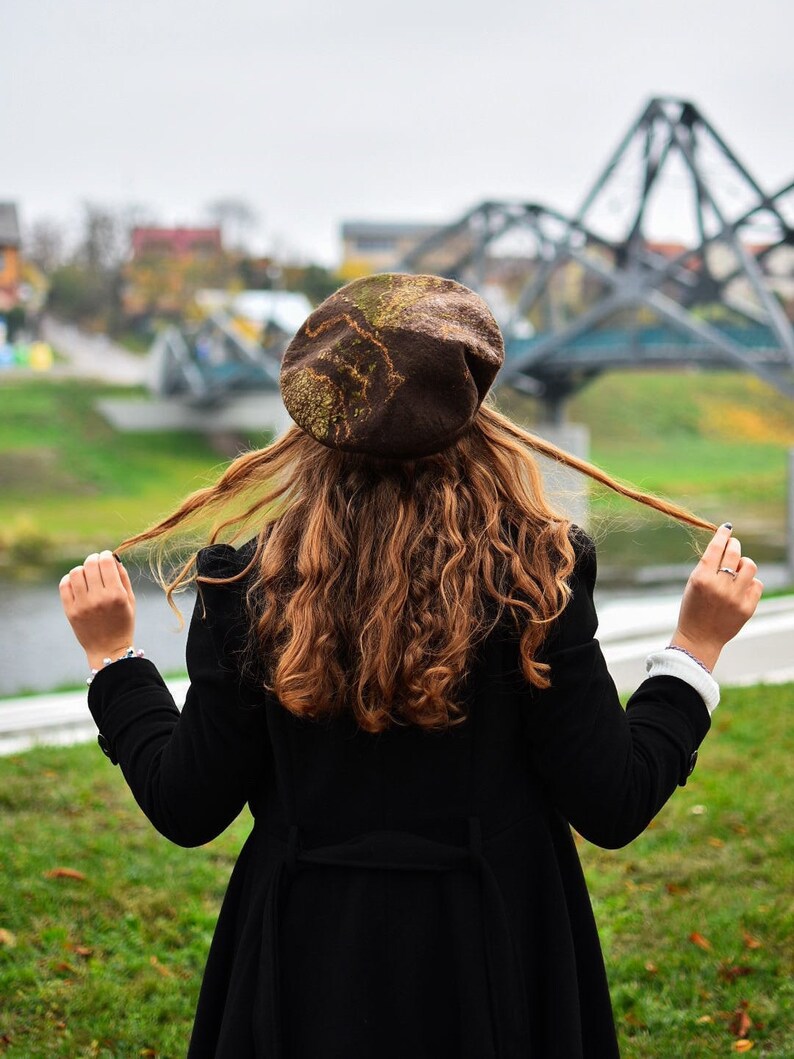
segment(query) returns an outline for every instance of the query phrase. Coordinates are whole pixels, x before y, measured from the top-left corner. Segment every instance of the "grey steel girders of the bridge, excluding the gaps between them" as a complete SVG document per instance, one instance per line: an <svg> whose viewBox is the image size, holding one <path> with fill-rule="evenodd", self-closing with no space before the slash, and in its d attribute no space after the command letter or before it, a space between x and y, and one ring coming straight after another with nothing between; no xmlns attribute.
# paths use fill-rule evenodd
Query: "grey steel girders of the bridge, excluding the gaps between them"
<svg viewBox="0 0 794 1059"><path fill-rule="evenodd" d="M594 219L600 197L633 146L642 156L642 180L635 200L629 205L629 223L618 238L599 234ZM738 216L730 217L720 202L708 165L702 164L707 150L717 152L718 161L730 170L753 202ZM645 225L649 199L664 179L665 166L678 157L691 181L698 241L673 257L655 252L648 245ZM681 335L681 362L704 365L733 364L753 372L789 396L794 396L794 328L773 292L763 266L780 246L794 247L794 232L780 209L783 196L794 191L794 182L777 193L765 193L725 140L705 120L700 110L684 100L658 97L649 101L639 118L630 126L606 166L585 195L573 217L535 202L497 202L489 200L469 210L458 221L434 233L416 247L399 266L405 271L422 271L421 263L431 253L450 248L454 239L470 234L469 245L452 255L446 274L480 286L489 261L489 251L505 235L516 231L531 234L537 253L534 274L520 290L513 311L503 330L508 351L526 346L521 337L528 315L546 307L554 320L559 318L552 288L553 279L571 264L590 275L601 289L594 304L574 319L559 322L537 333L523 353L508 356L501 381L524 392L543 390L552 398L566 387L570 392L588 377L625 364L628 355L635 364L668 362L670 347L663 357L658 349L637 354L634 339L637 325L625 333L626 345L611 353L583 355L572 351L571 343L597 331L610 317L625 309L640 310L658 319L671 333ZM772 243L752 253L742 235L759 214L774 219L778 234ZM724 248L734 263L718 275L709 261ZM531 262L527 258L527 264ZM475 282L479 281L479 282ZM745 285L750 299L736 287ZM673 294L671 297L670 289ZM692 311L698 295L709 295L706 304L721 307L753 325L761 324L772 338L761 354L743 344L739 337L747 331L722 330ZM737 337L739 336L739 337ZM631 340L631 341L629 341ZM694 348L694 352L692 349ZM628 354L627 354L628 349ZM555 396L557 400L557 396Z"/></svg>

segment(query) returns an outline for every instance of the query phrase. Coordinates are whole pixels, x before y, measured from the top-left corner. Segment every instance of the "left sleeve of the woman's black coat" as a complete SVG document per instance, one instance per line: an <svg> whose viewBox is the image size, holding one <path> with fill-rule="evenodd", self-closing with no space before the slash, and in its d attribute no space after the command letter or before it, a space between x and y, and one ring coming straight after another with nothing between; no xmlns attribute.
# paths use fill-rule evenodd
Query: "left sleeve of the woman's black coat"
<svg viewBox="0 0 794 1059"><path fill-rule="evenodd" d="M237 553L199 553L199 574L228 576ZM88 704L101 742L155 827L197 846L220 834L266 768L264 711L241 682L236 657L243 621L239 584L199 586L187 636L191 686L180 714L155 665L129 659L102 669Z"/></svg>

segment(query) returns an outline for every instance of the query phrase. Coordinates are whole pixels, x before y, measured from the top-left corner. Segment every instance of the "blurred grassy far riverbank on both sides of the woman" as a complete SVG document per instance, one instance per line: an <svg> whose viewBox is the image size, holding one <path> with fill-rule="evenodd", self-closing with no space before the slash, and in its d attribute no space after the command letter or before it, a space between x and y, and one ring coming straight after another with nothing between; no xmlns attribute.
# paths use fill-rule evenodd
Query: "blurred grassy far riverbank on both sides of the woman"
<svg viewBox="0 0 794 1059"><path fill-rule="evenodd" d="M0 569L115 544L221 469L201 435L116 433L94 410L110 393L76 380L0 378ZM537 418L531 401L502 403L523 421ZM745 375L621 373L582 391L570 415L590 427L592 459L612 474L733 521L761 557L782 553L794 401ZM647 561L650 549L668 561L691 552L686 532L636 505L598 492L593 511L608 556L640 550Z"/></svg>

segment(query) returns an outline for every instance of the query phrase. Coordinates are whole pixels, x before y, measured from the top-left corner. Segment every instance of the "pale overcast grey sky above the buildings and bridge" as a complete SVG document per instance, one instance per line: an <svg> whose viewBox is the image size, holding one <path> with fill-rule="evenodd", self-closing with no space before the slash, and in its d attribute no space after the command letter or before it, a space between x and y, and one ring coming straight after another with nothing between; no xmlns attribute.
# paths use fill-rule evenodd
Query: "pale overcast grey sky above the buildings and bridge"
<svg viewBox="0 0 794 1059"><path fill-rule="evenodd" d="M23 220L251 202L332 262L343 219L572 211L651 95L794 177L790 0L2 0L0 200Z"/></svg>

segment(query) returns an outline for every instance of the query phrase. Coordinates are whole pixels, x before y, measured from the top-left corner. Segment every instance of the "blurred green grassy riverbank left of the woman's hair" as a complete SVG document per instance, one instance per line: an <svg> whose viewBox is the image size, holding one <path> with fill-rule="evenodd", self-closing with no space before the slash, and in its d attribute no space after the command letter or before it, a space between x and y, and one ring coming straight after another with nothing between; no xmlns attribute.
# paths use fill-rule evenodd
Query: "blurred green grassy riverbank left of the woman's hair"
<svg viewBox="0 0 794 1059"><path fill-rule="evenodd" d="M201 434L116 432L94 405L119 393L129 396L76 380L0 380L0 563L114 546L223 469Z"/></svg>

